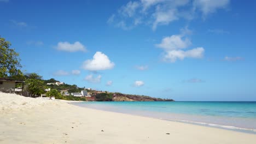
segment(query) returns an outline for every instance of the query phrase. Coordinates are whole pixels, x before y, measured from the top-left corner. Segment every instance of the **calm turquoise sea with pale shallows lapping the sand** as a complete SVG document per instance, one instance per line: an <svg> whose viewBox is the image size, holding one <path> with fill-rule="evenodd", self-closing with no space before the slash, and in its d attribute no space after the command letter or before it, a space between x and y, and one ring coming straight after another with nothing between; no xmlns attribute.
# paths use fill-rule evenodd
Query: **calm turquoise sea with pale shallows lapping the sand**
<svg viewBox="0 0 256 144"><path fill-rule="evenodd" d="M110 101L75 105L256 134L256 102Z"/></svg>

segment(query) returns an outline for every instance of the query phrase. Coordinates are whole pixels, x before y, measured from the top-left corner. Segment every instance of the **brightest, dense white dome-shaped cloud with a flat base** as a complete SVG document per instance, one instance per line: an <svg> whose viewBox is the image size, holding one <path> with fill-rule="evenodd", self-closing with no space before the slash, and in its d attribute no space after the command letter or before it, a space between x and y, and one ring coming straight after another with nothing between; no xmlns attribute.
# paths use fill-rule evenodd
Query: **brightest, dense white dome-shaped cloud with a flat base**
<svg viewBox="0 0 256 144"><path fill-rule="evenodd" d="M84 61L82 68L85 70L97 71L114 68L114 63L111 62L107 55L97 51L92 59Z"/></svg>

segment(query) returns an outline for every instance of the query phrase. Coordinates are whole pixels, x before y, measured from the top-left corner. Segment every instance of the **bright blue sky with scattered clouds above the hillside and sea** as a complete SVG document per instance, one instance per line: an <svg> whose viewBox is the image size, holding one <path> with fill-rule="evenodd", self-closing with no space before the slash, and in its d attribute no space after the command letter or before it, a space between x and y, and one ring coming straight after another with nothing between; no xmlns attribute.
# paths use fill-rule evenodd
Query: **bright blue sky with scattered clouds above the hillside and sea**
<svg viewBox="0 0 256 144"><path fill-rule="evenodd" d="M0 0L22 70L175 100L256 100L256 2Z"/></svg>

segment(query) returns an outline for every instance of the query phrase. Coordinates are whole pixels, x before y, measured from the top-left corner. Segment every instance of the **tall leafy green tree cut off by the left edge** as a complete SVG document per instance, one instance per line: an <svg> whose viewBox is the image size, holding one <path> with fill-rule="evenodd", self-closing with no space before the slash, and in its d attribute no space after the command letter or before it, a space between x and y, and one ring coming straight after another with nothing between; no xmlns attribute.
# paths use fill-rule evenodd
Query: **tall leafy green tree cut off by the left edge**
<svg viewBox="0 0 256 144"><path fill-rule="evenodd" d="M22 75L19 53L10 49L11 43L0 36L0 77ZM16 77L15 77L16 78Z"/></svg>

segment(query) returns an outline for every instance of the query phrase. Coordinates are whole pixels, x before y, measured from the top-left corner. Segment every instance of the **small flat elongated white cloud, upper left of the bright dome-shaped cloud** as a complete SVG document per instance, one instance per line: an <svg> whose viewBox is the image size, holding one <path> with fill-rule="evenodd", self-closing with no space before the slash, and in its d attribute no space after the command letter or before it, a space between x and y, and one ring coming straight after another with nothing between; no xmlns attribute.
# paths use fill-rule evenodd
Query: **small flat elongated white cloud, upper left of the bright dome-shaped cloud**
<svg viewBox="0 0 256 144"><path fill-rule="evenodd" d="M76 51L86 52L86 47L83 44L81 44L79 41L76 41L74 44L71 44L67 41L59 42L56 46L56 49L60 51L67 51L67 52L76 52Z"/></svg>

